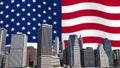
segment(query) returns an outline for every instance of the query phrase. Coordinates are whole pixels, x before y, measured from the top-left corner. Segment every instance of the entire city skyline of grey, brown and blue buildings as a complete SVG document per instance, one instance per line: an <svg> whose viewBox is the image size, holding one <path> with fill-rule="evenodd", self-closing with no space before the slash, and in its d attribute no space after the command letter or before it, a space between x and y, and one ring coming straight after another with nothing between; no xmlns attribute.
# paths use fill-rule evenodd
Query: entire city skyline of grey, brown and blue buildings
<svg viewBox="0 0 120 68"><path fill-rule="evenodd" d="M7 30L0 28L0 68L82 68L120 66L120 50L113 50L105 38L97 49L83 48L82 37L70 35L68 46L55 38L52 45L52 25L42 24L38 30L37 49L27 47L27 35L12 34L11 47L5 47Z"/></svg>

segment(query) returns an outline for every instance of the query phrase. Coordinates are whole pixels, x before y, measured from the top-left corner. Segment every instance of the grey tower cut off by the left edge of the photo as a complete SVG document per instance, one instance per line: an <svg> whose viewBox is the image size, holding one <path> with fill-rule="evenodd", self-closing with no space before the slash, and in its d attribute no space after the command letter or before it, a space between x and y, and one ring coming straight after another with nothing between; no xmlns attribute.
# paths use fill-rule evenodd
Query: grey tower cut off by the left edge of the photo
<svg viewBox="0 0 120 68"><path fill-rule="evenodd" d="M7 30L0 28L0 54L5 53L5 43L6 43Z"/></svg>

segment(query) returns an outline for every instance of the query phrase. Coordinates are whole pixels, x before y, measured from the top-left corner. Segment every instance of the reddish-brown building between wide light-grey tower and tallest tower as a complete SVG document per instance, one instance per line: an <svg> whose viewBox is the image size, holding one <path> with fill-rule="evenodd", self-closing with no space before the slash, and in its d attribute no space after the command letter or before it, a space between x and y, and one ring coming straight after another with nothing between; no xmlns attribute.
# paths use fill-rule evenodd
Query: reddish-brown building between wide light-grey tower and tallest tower
<svg viewBox="0 0 120 68"><path fill-rule="evenodd" d="M35 66L37 65L37 50L33 46L27 47L27 57L26 57L26 65L27 66Z"/></svg>

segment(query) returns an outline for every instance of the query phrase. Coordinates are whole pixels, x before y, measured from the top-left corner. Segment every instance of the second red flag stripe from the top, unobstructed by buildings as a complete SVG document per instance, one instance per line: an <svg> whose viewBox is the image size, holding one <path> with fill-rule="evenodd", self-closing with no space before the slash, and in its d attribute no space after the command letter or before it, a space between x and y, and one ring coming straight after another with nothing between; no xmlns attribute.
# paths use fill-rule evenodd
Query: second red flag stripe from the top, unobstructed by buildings
<svg viewBox="0 0 120 68"><path fill-rule="evenodd" d="M98 10L80 10L72 13L63 13L62 19L66 20L66 19L72 19L72 18L77 18L81 16L98 16L98 17L111 19L111 20L120 20L120 14L105 13Z"/></svg>

